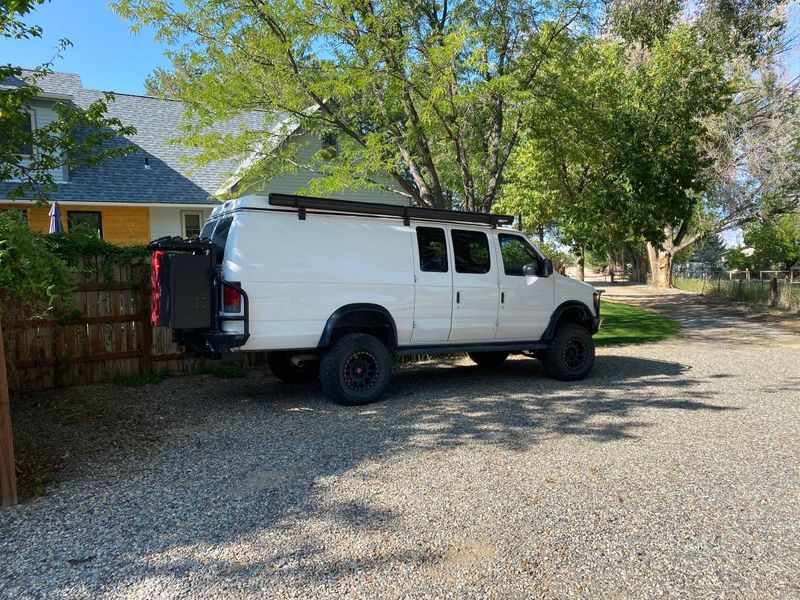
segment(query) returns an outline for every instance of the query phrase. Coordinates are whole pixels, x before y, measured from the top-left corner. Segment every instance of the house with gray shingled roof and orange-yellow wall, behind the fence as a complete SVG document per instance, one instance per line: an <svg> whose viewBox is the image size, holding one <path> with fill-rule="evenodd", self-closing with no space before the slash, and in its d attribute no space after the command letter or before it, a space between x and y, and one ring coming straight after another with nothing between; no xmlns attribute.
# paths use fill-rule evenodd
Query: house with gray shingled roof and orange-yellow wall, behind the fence
<svg viewBox="0 0 800 600"><path fill-rule="evenodd" d="M9 79L0 88L25 85ZM102 92L86 89L75 73L51 73L37 81L42 92L30 107L32 128L55 118L56 102L71 102L84 108L101 97ZM133 125L136 135L114 143L131 144L135 150L122 158L109 159L97 167L68 169L62 166L53 175L58 190L50 194L61 207L64 230L81 226L96 228L100 236L115 243L141 243L162 237L190 237L200 232L203 221L218 204L215 194L235 189L239 165L222 161L197 167L191 158L197 149L176 143L183 118L183 103L150 96L115 94L109 103L108 116L125 125ZM308 164L322 147L322 140L302 132L285 117L253 111L218 125L222 132L241 128L267 128L280 131L278 144L291 136L298 144L299 164ZM327 142L330 143L330 142ZM35 152L35 149L32 151ZM297 193L308 185L314 174L309 169L279 175L264 182L259 193ZM13 182L0 182L0 210L23 211L31 228L49 229L47 206L37 207L30 200L9 199ZM403 196L379 189L359 189L343 193L341 198L365 202L407 204Z"/></svg>

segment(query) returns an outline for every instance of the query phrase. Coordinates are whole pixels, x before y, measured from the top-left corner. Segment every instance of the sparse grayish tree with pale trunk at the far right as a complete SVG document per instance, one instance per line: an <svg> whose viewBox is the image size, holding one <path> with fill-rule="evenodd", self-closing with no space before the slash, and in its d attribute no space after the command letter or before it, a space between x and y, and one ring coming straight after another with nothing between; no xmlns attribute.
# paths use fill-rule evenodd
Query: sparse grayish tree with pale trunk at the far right
<svg viewBox="0 0 800 600"><path fill-rule="evenodd" d="M675 255L699 240L758 218L765 209L796 204L797 82L780 76L785 50L782 0L706 0L692 6L689 25L724 65L732 102L702 115L695 138L704 168L691 211L663 223L662 240L648 243L653 280L672 285ZM648 10L643 10L649 6ZM611 29L633 48L650 49L685 19L682 2L615 0ZM649 59L648 59L649 60Z"/></svg>

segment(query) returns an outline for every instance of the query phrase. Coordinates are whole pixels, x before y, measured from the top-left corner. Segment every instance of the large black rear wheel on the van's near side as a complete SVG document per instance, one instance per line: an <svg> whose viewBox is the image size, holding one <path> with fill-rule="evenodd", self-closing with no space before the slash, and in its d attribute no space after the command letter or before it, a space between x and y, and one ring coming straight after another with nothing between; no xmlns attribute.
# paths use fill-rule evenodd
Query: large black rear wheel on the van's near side
<svg viewBox="0 0 800 600"><path fill-rule="evenodd" d="M344 336L322 357L319 372L325 394L347 406L369 404L392 378L392 357L380 340L365 333Z"/></svg>

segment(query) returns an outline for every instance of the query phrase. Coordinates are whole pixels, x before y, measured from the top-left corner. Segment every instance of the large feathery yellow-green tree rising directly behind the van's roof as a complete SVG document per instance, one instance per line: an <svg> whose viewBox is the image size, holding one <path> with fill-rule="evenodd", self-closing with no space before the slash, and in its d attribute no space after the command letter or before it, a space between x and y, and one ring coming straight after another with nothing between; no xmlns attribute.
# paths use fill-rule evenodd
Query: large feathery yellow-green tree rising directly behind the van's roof
<svg viewBox="0 0 800 600"><path fill-rule="evenodd" d="M251 156L243 184L296 168L264 128L223 136L209 125L261 109L339 136L316 157L316 191L388 187L421 206L488 211L540 91L554 45L587 0L117 0L123 17L182 44L198 77L179 78L186 142L202 161ZM256 149L255 151L253 149ZM272 160L259 160L269 155ZM268 170L270 169L271 170ZM385 176L389 180L386 180Z"/></svg>

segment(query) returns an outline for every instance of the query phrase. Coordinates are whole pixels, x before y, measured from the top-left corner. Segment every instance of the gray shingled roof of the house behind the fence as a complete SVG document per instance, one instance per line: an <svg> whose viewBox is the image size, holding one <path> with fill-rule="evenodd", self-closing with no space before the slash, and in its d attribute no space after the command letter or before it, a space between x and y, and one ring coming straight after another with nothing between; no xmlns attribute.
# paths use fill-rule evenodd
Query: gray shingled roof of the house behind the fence
<svg viewBox="0 0 800 600"><path fill-rule="evenodd" d="M19 79L6 80L0 87L23 85ZM85 89L75 73L52 73L37 82L44 94L67 94L79 107L87 107L102 92ZM115 144L133 144L136 151L118 159L105 161L99 167L70 171L69 183L59 185L51 194L53 200L80 202L136 202L159 204L215 204L209 198L235 170L238 161L218 162L197 167L187 159L197 150L176 145L183 117L183 103L149 96L116 94L109 104L108 116L125 125L136 127L137 134L119 138ZM242 127L262 129L272 122L269 113L254 111L220 124L222 132L234 133ZM268 126L268 123L267 123ZM217 129L217 128L215 128ZM150 168L145 168L145 158ZM0 182L0 197L13 187Z"/></svg>

